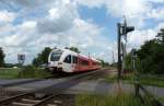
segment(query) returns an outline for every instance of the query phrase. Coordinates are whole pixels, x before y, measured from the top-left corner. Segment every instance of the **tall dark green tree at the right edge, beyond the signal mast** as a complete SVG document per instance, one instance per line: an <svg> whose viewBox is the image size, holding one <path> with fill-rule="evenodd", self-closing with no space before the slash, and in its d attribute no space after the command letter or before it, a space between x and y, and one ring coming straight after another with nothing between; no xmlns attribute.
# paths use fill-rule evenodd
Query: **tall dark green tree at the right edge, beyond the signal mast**
<svg viewBox="0 0 164 106"><path fill-rule="evenodd" d="M164 74L164 31L156 38L148 40L138 50L141 62L141 72Z"/></svg>

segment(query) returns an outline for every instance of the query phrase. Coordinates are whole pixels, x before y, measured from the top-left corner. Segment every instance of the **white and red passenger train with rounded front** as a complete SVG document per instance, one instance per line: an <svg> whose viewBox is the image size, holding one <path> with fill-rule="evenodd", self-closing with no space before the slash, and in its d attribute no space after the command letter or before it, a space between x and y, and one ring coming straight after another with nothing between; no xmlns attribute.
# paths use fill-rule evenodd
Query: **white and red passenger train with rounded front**
<svg viewBox="0 0 164 106"><path fill-rule="evenodd" d="M56 48L48 56L48 70L52 73L77 73L101 69L101 61L72 51Z"/></svg>

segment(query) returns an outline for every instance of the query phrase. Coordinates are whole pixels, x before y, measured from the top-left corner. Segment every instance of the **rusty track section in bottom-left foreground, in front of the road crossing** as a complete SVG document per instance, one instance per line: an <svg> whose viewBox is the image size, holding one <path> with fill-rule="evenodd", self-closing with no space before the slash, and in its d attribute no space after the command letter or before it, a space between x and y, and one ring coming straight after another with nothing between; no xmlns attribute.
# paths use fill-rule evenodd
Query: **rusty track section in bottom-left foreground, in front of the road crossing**
<svg viewBox="0 0 164 106"><path fill-rule="evenodd" d="M56 106L51 101L58 94L46 95L43 98L36 98L33 93L24 93L3 99L0 104L1 106Z"/></svg>

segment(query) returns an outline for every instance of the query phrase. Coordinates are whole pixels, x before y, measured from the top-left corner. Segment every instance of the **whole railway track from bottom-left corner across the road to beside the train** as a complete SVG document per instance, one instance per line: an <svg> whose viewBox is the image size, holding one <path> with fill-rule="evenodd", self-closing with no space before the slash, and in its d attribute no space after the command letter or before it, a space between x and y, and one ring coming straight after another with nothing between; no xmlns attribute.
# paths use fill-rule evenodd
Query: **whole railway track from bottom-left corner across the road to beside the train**
<svg viewBox="0 0 164 106"><path fill-rule="evenodd" d="M91 71L87 73L69 76L59 83L1 99L0 106L57 106L55 102L52 102L54 97L78 84L81 80L95 76L97 73L99 73L99 71ZM45 95L37 98L36 94Z"/></svg>

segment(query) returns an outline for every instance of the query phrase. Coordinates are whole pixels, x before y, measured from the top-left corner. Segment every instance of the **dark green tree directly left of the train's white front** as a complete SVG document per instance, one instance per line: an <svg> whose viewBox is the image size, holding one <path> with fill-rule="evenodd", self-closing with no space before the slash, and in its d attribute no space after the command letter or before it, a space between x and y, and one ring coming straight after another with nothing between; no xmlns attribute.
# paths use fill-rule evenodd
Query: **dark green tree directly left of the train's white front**
<svg viewBox="0 0 164 106"><path fill-rule="evenodd" d="M40 64L47 64L50 51L51 48L45 47L45 49L40 54L38 54L36 58L33 59L33 64L35 67L39 67Z"/></svg>

